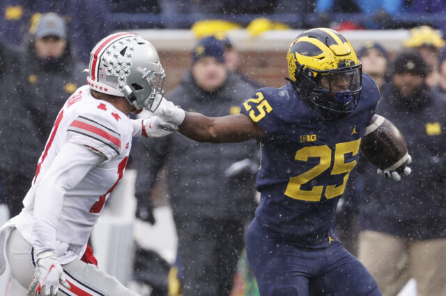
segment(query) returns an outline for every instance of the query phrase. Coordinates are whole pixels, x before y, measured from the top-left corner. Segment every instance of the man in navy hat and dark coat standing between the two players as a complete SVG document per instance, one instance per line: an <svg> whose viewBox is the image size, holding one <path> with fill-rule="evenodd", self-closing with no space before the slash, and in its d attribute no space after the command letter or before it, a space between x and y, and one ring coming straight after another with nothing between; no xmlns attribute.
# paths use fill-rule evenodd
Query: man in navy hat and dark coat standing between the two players
<svg viewBox="0 0 446 296"><path fill-rule="evenodd" d="M226 69L223 42L206 37L192 51L192 69L167 98L185 110L218 117L240 113L240 102L254 90ZM151 217L145 214L151 211L148 199L157 173L167 166L184 268L183 295L229 295L244 246L245 222L256 206L256 142L216 147L176 133L139 149L137 217Z"/></svg>

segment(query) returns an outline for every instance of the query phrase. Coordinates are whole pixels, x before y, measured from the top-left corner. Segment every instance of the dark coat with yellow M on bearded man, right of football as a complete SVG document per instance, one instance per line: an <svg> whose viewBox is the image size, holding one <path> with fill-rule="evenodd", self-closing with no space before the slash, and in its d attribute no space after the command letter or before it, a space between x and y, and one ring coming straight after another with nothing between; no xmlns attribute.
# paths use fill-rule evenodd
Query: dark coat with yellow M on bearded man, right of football
<svg viewBox="0 0 446 296"><path fill-rule="evenodd" d="M369 165L361 207L362 229L415 240L446 236L446 101L424 88L410 103L383 85L377 114L403 133L413 158L410 176L394 181Z"/></svg>

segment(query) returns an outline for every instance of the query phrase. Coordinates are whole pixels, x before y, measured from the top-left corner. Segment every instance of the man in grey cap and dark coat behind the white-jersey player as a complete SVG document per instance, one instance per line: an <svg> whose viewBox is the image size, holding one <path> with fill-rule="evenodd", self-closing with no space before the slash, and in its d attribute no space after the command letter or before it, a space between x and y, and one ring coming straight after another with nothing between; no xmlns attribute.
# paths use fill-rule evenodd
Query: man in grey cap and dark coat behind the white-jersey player
<svg viewBox="0 0 446 296"><path fill-rule="evenodd" d="M59 110L69 96L86 81L86 65L72 55L65 20L55 13L42 15L36 31L29 36L25 54L17 68L14 104L26 114L20 124L9 124L11 137L18 139L8 148L11 156L3 168L3 182L10 216L20 213L22 199L29 189L40 153L45 147ZM14 83L10 81L9 83ZM13 118L17 117L11 116ZM26 126L26 129L24 128ZM14 163L11 161L16 160ZM22 161L17 161L20 159Z"/></svg>

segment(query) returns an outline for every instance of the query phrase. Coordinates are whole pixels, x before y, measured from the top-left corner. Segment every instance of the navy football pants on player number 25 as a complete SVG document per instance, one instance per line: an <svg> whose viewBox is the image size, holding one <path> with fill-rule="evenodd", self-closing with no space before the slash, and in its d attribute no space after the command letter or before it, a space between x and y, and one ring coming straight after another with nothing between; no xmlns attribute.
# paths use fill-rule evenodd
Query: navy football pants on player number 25
<svg viewBox="0 0 446 296"><path fill-rule="evenodd" d="M261 296L381 295L364 265L337 238L303 247L277 238L254 219L245 247Z"/></svg>

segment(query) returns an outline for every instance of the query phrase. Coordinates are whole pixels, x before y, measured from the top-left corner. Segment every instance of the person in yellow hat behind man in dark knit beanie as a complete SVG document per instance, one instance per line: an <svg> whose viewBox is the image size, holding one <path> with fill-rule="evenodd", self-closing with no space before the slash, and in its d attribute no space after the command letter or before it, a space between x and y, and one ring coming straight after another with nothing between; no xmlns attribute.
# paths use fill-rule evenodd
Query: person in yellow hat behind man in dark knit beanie
<svg viewBox="0 0 446 296"><path fill-rule="evenodd" d="M426 83L429 86L438 85L440 74L438 72L438 50L443 47L445 40L430 26L417 26L410 30L410 37L404 41L404 46L420 51L428 67Z"/></svg>

